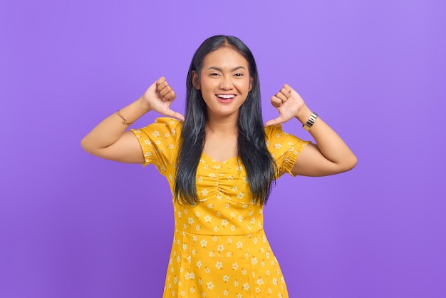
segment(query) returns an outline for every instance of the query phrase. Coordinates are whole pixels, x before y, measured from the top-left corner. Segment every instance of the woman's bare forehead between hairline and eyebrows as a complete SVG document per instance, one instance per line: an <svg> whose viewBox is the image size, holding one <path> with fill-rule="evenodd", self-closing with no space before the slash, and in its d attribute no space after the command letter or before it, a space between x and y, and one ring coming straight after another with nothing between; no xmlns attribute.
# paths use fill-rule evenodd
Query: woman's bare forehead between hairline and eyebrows
<svg viewBox="0 0 446 298"><path fill-rule="evenodd" d="M218 66L219 68L234 68L244 66L248 69L248 61L234 48L224 46L208 53L203 60L203 68Z"/></svg>

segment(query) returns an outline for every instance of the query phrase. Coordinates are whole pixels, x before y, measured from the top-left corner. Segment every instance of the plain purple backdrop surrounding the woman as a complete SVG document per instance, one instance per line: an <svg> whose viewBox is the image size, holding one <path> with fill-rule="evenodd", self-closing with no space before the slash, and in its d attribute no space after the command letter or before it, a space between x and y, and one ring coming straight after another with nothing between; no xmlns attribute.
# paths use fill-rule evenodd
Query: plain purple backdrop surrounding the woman
<svg viewBox="0 0 446 298"><path fill-rule="evenodd" d="M271 195L290 296L446 297L445 1L1 1L0 29L0 297L161 297L167 182L80 141L159 76L183 111L214 34L253 51L264 120L289 83L358 155Z"/></svg>

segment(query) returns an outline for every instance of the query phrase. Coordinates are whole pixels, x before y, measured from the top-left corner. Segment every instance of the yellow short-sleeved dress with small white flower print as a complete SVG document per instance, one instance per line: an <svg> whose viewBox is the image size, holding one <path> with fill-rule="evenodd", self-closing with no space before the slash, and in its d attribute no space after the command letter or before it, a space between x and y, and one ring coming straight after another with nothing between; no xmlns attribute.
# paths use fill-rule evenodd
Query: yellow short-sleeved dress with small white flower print
<svg viewBox="0 0 446 298"><path fill-rule="evenodd" d="M172 191L181 125L172 118L158 118L132 130L145 165L154 164ZM291 174L294 161L309 142L284 133L281 125L267 127L265 132L278 177ZM172 200L175 231L163 297L288 297L264 232L263 206L251 201L242 161L219 162L203 153L197 192L197 205Z"/></svg>

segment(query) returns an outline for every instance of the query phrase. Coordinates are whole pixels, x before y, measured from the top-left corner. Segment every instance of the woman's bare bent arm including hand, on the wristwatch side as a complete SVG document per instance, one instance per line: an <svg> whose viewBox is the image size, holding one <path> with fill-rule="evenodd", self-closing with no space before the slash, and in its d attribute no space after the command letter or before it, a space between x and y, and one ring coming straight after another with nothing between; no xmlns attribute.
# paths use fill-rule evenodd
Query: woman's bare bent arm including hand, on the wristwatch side
<svg viewBox="0 0 446 298"><path fill-rule="evenodd" d="M289 85L284 85L284 88L271 98L271 103L277 108L280 115L274 120L269 120L266 125L284 123L291 118L297 118L304 124L311 115L311 110L306 106L299 93ZM309 144L302 150L291 170L294 175L333 175L355 167L356 155L321 118L316 119L309 132L316 144Z"/></svg>

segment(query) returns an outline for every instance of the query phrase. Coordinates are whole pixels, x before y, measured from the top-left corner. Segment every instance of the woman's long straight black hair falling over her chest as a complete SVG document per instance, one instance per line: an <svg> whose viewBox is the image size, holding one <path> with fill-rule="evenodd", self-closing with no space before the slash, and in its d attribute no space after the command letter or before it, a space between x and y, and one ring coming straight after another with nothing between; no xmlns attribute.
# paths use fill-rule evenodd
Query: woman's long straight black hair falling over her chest
<svg viewBox="0 0 446 298"><path fill-rule="evenodd" d="M185 204L198 202L195 177L202 155L207 121L207 106L201 91L192 83L192 73L199 78L204 57L218 48L228 46L248 61L251 91L239 108L237 153L247 171L254 202L265 204L271 184L275 181L276 164L266 148L264 124L261 118L259 73L249 48L234 36L212 36L199 46L187 73L186 115L182 125L180 150L176 163L174 197Z"/></svg>

